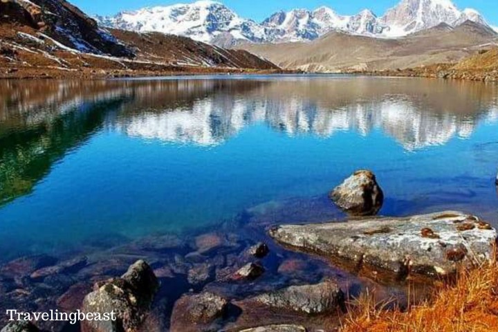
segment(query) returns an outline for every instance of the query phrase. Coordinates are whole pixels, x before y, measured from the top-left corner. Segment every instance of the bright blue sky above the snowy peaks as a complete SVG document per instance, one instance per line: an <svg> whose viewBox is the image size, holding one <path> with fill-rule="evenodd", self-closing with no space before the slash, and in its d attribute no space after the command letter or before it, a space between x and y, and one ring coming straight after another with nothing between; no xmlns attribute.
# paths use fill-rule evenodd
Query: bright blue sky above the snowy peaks
<svg viewBox="0 0 498 332"><path fill-rule="evenodd" d="M190 0L70 0L89 14L110 15L121 10L133 10L148 6L163 6L174 3L190 3ZM381 15L387 8L395 6L400 0L221 0L226 6L235 10L242 17L261 21L277 10L293 8L317 8L329 6L343 15L356 14L364 8L374 10ZM454 0L458 8L475 8L479 10L490 24L498 25L498 3L496 0Z"/></svg>

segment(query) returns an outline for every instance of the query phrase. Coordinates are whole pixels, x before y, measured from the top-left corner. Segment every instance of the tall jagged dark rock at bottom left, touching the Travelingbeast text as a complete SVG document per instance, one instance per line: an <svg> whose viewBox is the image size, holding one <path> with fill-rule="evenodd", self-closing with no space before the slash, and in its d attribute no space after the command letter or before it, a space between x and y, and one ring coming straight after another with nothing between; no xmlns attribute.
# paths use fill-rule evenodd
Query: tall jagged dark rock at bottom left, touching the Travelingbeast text
<svg viewBox="0 0 498 332"><path fill-rule="evenodd" d="M98 283L83 300L84 313L116 313L116 321L83 321L83 332L132 332L143 322L159 283L145 261L137 261L122 277Z"/></svg>

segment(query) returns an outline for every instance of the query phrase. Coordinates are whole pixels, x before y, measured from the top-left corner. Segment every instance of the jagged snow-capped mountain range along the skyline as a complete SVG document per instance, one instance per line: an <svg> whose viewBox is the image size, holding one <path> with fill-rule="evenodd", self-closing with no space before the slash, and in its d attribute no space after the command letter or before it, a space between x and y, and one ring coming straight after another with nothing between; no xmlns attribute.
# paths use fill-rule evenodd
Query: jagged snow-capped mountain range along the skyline
<svg viewBox="0 0 498 332"><path fill-rule="evenodd" d="M367 9L356 15L339 15L325 6L316 10L295 9L276 12L260 24L210 0L96 19L111 28L158 31L223 46L237 42L302 42L333 30L371 37L403 37L441 23L458 26L470 20L488 26L477 10L459 10L451 0L402 0L382 17Z"/></svg>

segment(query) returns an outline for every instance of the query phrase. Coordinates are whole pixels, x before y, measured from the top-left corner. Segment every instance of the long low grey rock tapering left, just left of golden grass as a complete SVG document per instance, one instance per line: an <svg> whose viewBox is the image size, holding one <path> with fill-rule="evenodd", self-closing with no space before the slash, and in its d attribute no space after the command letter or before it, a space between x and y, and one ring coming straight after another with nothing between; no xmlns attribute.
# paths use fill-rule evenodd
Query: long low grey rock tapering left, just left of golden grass
<svg viewBox="0 0 498 332"><path fill-rule="evenodd" d="M290 286L259 295L255 300L274 308L304 313L326 313L344 302L344 293L336 282L327 280L315 285Z"/></svg>

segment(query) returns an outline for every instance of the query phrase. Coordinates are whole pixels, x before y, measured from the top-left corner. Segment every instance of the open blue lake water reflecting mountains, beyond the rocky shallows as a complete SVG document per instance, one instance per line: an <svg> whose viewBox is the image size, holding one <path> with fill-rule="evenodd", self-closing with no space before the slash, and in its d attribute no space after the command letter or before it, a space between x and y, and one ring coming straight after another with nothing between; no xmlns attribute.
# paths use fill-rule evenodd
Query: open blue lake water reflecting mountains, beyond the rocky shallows
<svg viewBox="0 0 498 332"><path fill-rule="evenodd" d="M199 230L326 197L362 168L382 214L498 225L497 93L336 76L0 82L0 260ZM307 214L334 209L322 201Z"/></svg>

